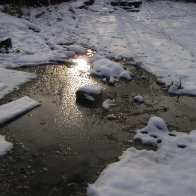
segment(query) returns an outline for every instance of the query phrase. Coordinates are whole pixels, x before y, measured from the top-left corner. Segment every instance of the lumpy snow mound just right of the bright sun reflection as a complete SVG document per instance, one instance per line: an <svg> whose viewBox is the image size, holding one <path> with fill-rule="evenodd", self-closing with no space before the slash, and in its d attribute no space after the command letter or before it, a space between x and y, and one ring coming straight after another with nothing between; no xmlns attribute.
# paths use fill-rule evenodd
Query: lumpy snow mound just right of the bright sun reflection
<svg viewBox="0 0 196 196"><path fill-rule="evenodd" d="M131 79L131 73L123 68L120 63L109 59L100 59L92 64L91 74L98 77Z"/></svg>

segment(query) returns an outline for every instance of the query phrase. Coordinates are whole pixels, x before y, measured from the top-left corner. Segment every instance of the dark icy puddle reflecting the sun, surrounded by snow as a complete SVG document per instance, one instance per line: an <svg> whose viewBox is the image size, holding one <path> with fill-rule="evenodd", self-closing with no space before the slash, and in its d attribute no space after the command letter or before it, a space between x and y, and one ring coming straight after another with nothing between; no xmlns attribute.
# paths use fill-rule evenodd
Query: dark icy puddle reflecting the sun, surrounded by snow
<svg viewBox="0 0 196 196"><path fill-rule="evenodd" d="M37 79L24 84L0 104L22 96L41 103L26 115L1 126L0 134L14 143L12 152L0 157L0 195L86 195L103 168L118 159L128 147L148 148L131 142L135 130L151 116L165 119L171 130L196 128L196 99L171 96L156 84L156 78L124 62L135 77L108 86L77 67L48 65L25 68ZM144 75L145 77L141 78ZM104 111L75 102L76 90L84 84L104 89L103 100L114 99L116 107ZM143 95L144 103L133 101ZM107 119L114 114L115 119Z"/></svg>

